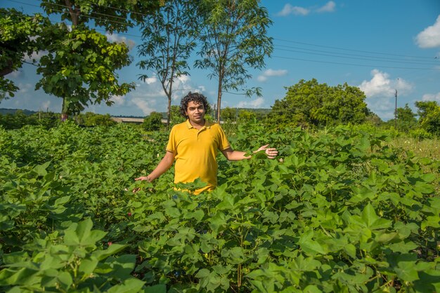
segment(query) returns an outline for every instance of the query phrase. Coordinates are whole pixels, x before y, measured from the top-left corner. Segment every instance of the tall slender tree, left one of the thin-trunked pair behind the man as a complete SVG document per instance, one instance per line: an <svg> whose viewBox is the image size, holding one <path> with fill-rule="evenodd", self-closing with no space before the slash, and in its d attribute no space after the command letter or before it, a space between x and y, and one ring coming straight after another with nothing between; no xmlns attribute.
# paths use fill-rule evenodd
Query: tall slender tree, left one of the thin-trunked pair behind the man
<svg viewBox="0 0 440 293"><path fill-rule="evenodd" d="M152 70L168 98L167 127L171 120L171 102L174 81L188 75L188 58L196 46L200 14L197 1L169 0L156 13L145 17L142 23L143 43L138 55L148 59L138 62L144 70ZM147 79L141 74L140 79Z"/></svg>

